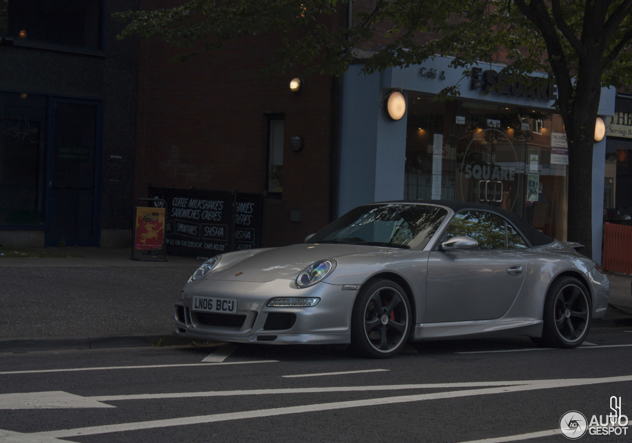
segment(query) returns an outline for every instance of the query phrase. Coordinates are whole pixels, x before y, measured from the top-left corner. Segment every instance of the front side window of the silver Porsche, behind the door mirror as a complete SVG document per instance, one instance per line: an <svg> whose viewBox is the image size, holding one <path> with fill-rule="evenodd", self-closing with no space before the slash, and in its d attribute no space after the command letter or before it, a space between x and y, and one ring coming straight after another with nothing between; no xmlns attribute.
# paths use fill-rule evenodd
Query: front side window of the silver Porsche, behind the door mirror
<svg viewBox="0 0 632 443"><path fill-rule="evenodd" d="M479 249L505 249L505 220L491 212L466 210L454 215L447 238L467 236L478 241Z"/></svg>

